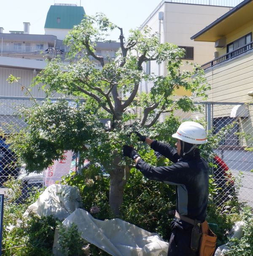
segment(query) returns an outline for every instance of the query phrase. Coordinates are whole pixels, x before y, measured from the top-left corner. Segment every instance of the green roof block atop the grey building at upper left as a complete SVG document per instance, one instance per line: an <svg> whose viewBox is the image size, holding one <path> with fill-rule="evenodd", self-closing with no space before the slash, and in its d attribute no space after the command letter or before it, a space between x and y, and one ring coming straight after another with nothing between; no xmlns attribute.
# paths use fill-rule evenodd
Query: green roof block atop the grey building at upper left
<svg viewBox="0 0 253 256"><path fill-rule="evenodd" d="M72 29L83 19L85 11L82 6L51 5L45 22L45 28Z"/></svg>

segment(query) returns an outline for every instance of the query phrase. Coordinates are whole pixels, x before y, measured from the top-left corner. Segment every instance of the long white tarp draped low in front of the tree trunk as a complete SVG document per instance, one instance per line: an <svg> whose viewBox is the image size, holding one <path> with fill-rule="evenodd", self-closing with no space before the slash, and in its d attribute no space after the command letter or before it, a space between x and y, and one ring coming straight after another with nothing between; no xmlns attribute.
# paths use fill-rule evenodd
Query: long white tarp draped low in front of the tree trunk
<svg viewBox="0 0 253 256"><path fill-rule="evenodd" d="M77 209L62 224L74 223L81 237L113 256L167 256L169 244L156 233L150 233L120 219L100 221L86 210ZM54 238L53 252L62 256ZM58 248L58 249L57 249Z"/></svg>

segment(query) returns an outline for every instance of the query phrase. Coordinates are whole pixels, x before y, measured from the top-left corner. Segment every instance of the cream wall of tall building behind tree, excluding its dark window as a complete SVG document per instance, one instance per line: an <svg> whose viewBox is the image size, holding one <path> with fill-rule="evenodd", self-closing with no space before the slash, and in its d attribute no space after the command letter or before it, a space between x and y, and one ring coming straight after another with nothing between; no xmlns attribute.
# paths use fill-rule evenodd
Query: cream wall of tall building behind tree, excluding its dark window
<svg viewBox="0 0 253 256"><path fill-rule="evenodd" d="M214 43L194 42L190 37L229 10L229 7L221 6L164 3L143 25L151 27L152 32L159 32L158 15L160 11L163 11L164 20L161 23L160 30L161 43L169 42L178 46L194 47L194 59L189 60L189 62L196 62L202 65L213 59ZM189 68L183 67L183 69ZM154 61L151 62L151 73L159 74L159 66ZM161 64L160 75L166 74L166 65ZM149 91L151 86L152 84L147 84L143 81L140 90L143 92ZM190 95L189 92L183 89L176 90L176 94L180 96Z"/></svg>

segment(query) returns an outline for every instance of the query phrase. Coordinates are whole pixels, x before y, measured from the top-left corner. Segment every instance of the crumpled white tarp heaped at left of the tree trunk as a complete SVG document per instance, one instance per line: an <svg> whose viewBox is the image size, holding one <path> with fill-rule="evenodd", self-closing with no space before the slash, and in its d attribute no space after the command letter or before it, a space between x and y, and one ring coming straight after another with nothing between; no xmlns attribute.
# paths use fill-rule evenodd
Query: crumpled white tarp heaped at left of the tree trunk
<svg viewBox="0 0 253 256"><path fill-rule="evenodd" d="M32 212L39 216L53 215L64 220L80 207L82 207L82 199L77 187L53 184L45 189L37 202L28 207L23 216L27 217L29 212Z"/></svg>

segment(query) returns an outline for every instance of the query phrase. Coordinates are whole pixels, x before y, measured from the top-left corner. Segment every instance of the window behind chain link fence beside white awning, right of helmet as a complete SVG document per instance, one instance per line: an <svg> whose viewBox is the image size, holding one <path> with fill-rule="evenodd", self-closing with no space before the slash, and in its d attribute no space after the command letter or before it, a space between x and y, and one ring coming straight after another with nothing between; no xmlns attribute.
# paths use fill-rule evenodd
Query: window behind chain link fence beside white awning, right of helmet
<svg viewBox="0 0 253 256"><path fill-rule="evenodd" d="M226 127L229 124L232 124L236 121L235 118L224 116L218 117L213 119L213 134L218 133L222 128ZM223 140L220 141L220 146L239 146L239 139L238 135L236 134L239 132L239 125L238 123L234 123L234 126L228 130Z"/></svg>

